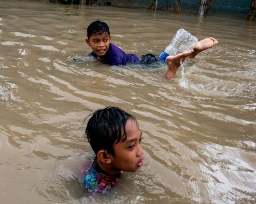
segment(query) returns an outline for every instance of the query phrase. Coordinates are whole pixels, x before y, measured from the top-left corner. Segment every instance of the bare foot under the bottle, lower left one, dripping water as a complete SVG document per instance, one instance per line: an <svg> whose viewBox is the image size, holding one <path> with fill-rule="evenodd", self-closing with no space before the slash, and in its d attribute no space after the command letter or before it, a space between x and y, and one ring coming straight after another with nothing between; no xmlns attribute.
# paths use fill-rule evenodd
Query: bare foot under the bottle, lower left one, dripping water
<svg viewBox="0 0 256 204"><path fill-rule="evenodd" d="M184 60L188 56L190 56L193 52L194 50L189 50L189 51L180 53L179 55L166 57L166 63L168 66L166 76L168 79L175 77L175 74L180 66L180 60L184 62Z"/></svg>

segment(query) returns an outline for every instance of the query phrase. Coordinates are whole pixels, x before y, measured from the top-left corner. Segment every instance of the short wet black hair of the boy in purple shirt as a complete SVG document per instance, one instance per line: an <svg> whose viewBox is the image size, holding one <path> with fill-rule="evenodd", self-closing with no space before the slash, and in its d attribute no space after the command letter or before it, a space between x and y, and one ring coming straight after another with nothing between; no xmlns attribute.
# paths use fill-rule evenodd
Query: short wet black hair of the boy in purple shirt
<svg viewBox="0 0 256 204"><path fill-rule="evenodd" d="M90 37L93 34L103 34L103 33L108 33L110 36L110 31L109 31L109 27L108 24L106 24L105 22L96 20L93 21L88 27L87 27L87 37L88 39L90 39Z"/></svg>

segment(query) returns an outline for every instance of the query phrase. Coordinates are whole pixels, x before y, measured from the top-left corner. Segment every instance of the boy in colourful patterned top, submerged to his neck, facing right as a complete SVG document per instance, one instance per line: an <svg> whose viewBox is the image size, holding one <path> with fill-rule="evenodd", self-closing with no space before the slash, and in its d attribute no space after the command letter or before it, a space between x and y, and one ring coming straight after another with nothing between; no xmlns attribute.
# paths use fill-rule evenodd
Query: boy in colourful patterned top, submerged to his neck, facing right
<svg viewBox="0 0 256 204"><path fill-rule="evenodd" d="M134 116L116 107L91 114L85 137L96 156L89 165L84 184L87 192L115 186L121 171L136 172L143 164L142 133Z"/></svg>

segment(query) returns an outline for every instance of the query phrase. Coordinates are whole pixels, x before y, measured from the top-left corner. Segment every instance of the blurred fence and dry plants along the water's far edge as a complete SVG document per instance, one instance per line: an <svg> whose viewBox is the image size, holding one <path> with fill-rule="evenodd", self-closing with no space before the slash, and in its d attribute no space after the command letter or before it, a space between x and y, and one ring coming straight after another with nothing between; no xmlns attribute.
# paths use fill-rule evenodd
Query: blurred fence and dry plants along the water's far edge
<svg viewBox="0 0 256 204"><path fill-rule="evenodd" d="M247 19L253 20L256 16L256 0L246 0L250 1L250 6L245 3L239 3L232 7L232 4L227 4L226 1L220 1L220 3L213 5L214 0L49 0L52 3L62 3L62 4L86 4L86 5L102 5L102 6L115 6L121 8L139 8L139 9L150 9L150 10L171 10L173 13L181 13L181 8L183 10L194 10L191 15L198 14L200 12L200 7L203 5L203 13L207 15L210 10L215 12L217 9L226 9L227 13L230 9L241 9L249 10ZM231 0L229 0L231 2ZM244 0L245 1L245 0ZM149 4L145 4L145 3ZM226 2L225 6L222 3ZM186 3L190 4L190 7L184 9L184 4L186 8ZM160 4L160 5L159 5ZM243 7L241 7L242 5ZM238 11L237 11L238 12Z"/></svg>

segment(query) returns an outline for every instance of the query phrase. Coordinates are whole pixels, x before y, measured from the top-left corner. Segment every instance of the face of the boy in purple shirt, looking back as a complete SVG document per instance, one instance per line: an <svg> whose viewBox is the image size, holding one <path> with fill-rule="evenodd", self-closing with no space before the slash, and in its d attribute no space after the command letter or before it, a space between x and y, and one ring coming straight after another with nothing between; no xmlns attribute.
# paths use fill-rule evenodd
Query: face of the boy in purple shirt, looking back
<svg viewBox="0 0 256 204"><path fill-rule="evenodd" d="M86 39L85 41L98 57L102 57L109 49L110 40L111 36L105 32L101 35L93 34L89 39Z"/></svg>

